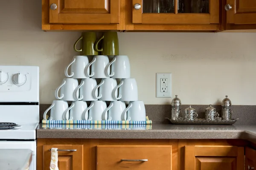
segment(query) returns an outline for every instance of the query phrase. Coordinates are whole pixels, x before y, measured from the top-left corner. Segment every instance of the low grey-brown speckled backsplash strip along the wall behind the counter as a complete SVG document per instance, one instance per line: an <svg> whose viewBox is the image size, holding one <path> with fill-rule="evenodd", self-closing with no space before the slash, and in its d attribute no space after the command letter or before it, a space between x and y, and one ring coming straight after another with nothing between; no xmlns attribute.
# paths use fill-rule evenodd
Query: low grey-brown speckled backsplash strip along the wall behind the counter
<svg viewBox="0 0 256 170"><path fill-rule="evenodd" d="M50 104L40 105L40 122L43 119L44 111ZM181 111L188 108L189 105L182 105ZM198 118L204 118L204 111L209 105L192 105L198 113ZM221 117L221 105L213 105ZM171 105L145 105L146 115L154 123L169 123L166 117L171 118ZM239 118L236 124L255 124L256 105L232 105L232 119ZM49 114L49 113L48 113Z"/></svg>

